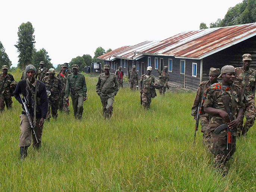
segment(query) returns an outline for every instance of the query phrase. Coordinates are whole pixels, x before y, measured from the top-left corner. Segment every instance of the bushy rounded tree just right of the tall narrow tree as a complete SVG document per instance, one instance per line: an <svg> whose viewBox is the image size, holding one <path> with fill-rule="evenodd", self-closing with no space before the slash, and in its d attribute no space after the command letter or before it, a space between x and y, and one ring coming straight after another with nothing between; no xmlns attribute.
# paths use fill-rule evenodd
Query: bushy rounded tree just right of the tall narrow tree
<svg viewBox="0 0 256 192"><path fill-rule="evenodd" d="M39 51L35 49L33 54L33 65L38 68L40 66L40 62L44 62L44 67L50 69L53 68L53 64L51 64L51 58L48 55L48 52L41 48Z"/></svg>

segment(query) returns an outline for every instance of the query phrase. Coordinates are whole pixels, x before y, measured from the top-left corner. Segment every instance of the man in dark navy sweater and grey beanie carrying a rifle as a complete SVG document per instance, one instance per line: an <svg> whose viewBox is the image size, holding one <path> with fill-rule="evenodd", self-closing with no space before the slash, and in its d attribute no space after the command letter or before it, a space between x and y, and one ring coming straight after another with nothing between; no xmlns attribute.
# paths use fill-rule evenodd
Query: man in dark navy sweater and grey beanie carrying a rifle
<svg viewBox="0 0 256 192"><path fill-rule="evenodd" d="M44 119L46 118L48 107L46 86L43 82L35 79L35 67L30 64L26 67L25 72L28 78L18 82L13 95L21 104L23 103L20 94L22 94L26 100L29 116L32 119L32 124L34 125L35 135L37 136L38 142L35 139L35 135L31 136L31 122L29 122L29 118L27 117L28 114L26 114L24 106L22 106L22 112L19 116L21 118L21 135L19 136L19 147L21 159L23 160L27 156L27 150L31 145L32 138L32 146L37 149L41 147Z"/></svg>

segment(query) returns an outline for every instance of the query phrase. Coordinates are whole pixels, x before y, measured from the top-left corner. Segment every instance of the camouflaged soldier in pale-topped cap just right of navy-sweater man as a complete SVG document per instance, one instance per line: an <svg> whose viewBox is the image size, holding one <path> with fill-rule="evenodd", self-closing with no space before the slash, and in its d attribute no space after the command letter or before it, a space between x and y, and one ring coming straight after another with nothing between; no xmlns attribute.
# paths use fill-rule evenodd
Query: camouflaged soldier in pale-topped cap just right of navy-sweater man
<svg viewBox="0 0 256 192"><path fill-rule="evenodd" d="M49 121L51 118L51 115L54 119L58 116L58 108L59 108L59 98L61 93L61 84L60 79L56 78L55 70L53 68L49 69L49 76L45 76L43 79L43 83L46 86L46 90L50 91L51 94L48 97L48 111L46 119Z"/></svg>

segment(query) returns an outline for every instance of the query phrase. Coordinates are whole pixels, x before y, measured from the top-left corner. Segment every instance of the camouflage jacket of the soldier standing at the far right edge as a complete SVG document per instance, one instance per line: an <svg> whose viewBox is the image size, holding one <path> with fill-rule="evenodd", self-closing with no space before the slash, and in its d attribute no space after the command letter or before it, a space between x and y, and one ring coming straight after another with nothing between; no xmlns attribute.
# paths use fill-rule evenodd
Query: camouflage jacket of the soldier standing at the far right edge
<svg viewBox="0 0 256 192"><path fill-rule="evenodd" d="M253 99L252 88L256 86L256 70L249 68L248 71L244 71L243 67L238 67L235 69L235 75L235 85L239 86L241 90L243 90L244 85L246 84L242 98L245 98L247 101Z"/></svg>

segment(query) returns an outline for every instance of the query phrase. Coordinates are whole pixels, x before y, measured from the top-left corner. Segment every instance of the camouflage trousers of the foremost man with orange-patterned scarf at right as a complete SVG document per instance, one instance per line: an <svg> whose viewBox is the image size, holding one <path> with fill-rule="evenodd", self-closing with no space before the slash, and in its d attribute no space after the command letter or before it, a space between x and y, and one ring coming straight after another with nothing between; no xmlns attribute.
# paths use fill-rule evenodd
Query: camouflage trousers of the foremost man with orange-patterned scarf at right
<svg viewBox="0 0 256 192"><path fill-rule="evenodd" d="M237 133L234 133L237 135ZM230 152L230 157L235 152L235 140L236 136L233 136L232 150ZM222 130L219 133L211 132L211 152L214 154L214 163L215 164L225 164L227 159L227 130Z"/></svg>

